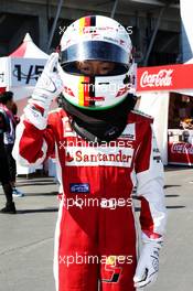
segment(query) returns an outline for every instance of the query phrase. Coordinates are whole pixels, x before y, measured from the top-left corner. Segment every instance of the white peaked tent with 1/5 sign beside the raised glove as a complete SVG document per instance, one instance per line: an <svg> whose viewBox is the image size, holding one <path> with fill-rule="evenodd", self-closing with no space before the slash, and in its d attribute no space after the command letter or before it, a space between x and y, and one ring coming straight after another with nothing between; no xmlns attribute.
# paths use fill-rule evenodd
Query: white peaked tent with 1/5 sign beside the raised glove
<svg viewBox="0 0 193 291"><path fill-rule="evenodd" d="M47 57L26 33L22 44L10 56L0 57L0 87L12 90L17 101L26 101ZM22 110L21 106L19 109Z"/></svg>

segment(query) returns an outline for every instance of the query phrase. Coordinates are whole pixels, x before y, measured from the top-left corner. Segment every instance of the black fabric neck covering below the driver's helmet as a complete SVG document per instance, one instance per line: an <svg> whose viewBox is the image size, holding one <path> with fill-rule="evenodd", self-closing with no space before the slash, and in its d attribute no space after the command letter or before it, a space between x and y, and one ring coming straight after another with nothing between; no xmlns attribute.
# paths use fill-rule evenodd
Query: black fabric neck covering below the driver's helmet
<svg viewBox="0 0 193 291"><path fill-rule="evenodd" d="M98 143L116 140L122 133L135 105L136 97L131 94L119 105L97 111L78 108L63 98L63 108L72 117L73 129L82 138Z"/></svg>

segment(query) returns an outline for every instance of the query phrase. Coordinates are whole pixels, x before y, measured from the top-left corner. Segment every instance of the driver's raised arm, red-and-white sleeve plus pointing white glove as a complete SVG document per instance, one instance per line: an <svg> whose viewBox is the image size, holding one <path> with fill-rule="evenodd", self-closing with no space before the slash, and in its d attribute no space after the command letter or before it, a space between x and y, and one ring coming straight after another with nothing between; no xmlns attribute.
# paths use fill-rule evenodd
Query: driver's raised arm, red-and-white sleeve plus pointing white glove
<svg viewBox="0 0 193 291"><path fill-rule="evenodd" d="M21 165L39 165L54 151L54 133L47 118L53 98L62 90L57 65L58 55L53 53L17 127L13 157Z"/></svg>

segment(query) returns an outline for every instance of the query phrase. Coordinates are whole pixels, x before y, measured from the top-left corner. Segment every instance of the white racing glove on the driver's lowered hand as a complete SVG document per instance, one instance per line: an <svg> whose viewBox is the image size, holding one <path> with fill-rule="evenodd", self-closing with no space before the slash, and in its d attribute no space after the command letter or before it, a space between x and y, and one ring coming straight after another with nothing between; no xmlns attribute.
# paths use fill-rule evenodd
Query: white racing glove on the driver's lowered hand
<svg viewBox="0 0 193 291"><path fill-rule="evenodd" d="M143 288L156 282L159 271L159 251L161 240L144 242L133 278L136 288Z"/></svg>

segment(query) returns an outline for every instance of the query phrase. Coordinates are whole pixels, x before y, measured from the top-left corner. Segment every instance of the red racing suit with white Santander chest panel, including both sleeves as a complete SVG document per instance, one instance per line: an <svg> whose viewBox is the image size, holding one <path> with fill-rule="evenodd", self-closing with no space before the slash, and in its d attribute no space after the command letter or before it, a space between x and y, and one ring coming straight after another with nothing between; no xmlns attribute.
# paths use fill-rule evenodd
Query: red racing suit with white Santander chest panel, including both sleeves
<svg viewBox="0 0 193 291"><path fill-rule="evenodd" d="M56 153L63 193L55 231L56 290L135 291L135 183L142 233L158 238L165 224L163 166L152 119L131 111L121 136L98 146L77 136L69 118L57 109L44 130L23 118L14 146L14 157L25 165Z"/></svg>

